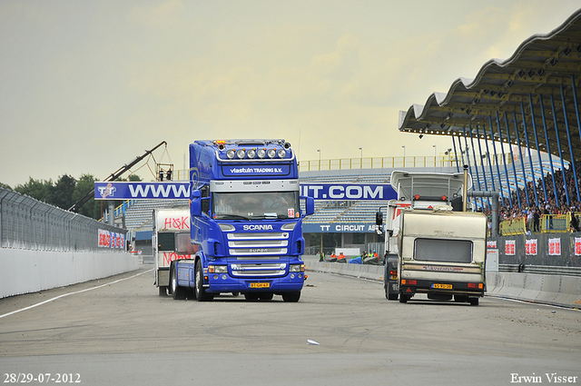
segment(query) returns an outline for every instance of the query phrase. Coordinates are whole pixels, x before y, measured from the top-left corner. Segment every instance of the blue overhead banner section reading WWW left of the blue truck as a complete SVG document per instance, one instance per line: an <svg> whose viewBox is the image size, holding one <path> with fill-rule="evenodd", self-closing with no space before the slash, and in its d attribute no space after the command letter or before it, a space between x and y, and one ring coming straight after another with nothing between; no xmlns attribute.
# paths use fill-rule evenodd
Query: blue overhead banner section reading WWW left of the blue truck
<svg viewBox="0 0 581 386"><path fill-rule="evenodd" d="M94 183L95 200L190 199L190 183Z"/></svg>

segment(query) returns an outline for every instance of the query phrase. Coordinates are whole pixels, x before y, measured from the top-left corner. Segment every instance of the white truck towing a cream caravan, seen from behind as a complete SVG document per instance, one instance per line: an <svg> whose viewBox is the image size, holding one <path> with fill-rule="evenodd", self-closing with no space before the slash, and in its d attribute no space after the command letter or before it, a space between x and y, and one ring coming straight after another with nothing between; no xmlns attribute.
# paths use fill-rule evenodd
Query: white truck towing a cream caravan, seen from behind
<svg viewBox="0 0 581 386"><path fill-rule="evenodd" d="M386 297L408 302L426 293L478 305L485 292L487 218L466 212L468 173L394 171L391 185L399 199L389 202L386 218Z"/></svg>

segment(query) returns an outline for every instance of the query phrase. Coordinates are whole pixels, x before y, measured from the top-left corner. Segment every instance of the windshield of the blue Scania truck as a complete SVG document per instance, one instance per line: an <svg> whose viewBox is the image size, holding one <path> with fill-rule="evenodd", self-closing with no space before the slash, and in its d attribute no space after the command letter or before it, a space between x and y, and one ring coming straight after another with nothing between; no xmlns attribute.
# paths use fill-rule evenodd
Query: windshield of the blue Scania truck
<svg viewBox="0 0 581 386"><path fill-rule="evenodd" d="M300 216L299 192L213 193L212 217L221 220L289 219Z"/></svg>

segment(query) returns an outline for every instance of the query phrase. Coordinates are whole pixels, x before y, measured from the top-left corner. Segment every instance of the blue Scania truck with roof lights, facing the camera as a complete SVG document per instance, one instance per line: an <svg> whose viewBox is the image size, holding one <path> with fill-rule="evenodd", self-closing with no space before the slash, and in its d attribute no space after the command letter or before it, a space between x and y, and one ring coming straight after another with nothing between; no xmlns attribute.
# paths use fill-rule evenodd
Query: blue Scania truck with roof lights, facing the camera
<svg viewBox="0 0 581 386"><path fill-rule="evenodd" d="M190 144L191 242L197 251L170 267L173 299L298 302L305 276L299 168L284 140ZM301 210L300 200L304 200Z"/></svg>

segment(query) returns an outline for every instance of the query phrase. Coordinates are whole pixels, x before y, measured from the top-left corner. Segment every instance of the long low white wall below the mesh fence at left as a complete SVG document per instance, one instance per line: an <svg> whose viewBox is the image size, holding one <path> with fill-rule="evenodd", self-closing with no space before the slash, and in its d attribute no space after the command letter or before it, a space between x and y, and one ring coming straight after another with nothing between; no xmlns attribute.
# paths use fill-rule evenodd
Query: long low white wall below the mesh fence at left
<svg viewBox="0 0 581 386"><path fill-rule="evenodd" d="M138 269L126 252L47 252L0 248L0 299Z"/></svg>

